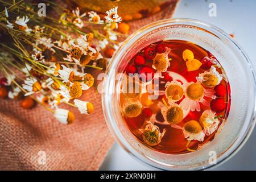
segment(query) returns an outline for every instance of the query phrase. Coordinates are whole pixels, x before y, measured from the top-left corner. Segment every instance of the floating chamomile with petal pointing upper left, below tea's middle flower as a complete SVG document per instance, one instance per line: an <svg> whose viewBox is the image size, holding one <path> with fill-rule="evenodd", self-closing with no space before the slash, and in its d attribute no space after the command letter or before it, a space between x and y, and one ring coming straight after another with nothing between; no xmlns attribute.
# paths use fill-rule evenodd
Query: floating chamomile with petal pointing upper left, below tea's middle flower
<svg viewBox="0 0 256 182"><path fill-rule="evenodd" d="M161 110L164 121L170 124L177 124L182 121L184 112L179 105L170 103L170 106L167 107L166 105L162 104L162 102L159 102L158 106Z"/></svg>

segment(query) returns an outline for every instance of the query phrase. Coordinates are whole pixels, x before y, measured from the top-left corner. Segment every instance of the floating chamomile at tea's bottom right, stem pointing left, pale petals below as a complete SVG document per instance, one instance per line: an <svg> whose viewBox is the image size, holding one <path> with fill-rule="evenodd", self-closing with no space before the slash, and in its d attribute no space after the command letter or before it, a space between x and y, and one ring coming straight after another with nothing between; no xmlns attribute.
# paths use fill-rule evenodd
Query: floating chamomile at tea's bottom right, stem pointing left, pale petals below
<svg viewBox="0 0 256 182"><path fill-rule="evenodd" d="M183 135L187 140L197 140L200 142L204 141L205 131L198 121L191 120L184 124L183 127L179 125L171 125L176 129L181 129L183 131Z"/></svg>

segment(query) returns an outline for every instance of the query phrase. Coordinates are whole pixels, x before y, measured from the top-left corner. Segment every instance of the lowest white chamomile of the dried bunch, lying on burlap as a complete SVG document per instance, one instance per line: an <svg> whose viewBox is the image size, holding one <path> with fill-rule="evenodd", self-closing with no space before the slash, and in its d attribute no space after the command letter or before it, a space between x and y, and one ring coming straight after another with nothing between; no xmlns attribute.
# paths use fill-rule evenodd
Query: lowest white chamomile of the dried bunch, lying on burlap
<svg viewBox="0 0 256 182"><path fill-rule="evenodd" d="M54 117L63 124L71 124L75 121L75 115L67 109L56 109Z"/></svg>

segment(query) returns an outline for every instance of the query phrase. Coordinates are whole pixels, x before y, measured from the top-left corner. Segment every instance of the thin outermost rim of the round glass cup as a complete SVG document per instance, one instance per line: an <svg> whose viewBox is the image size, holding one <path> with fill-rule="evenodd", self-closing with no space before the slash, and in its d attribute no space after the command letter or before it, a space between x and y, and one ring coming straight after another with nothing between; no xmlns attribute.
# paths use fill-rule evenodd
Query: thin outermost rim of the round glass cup
<svg viewBox="0 0 256 182"><path fill-rule="evenodd" d="M214 36L218 36L218 34L220 36L222 36L222 39L225 38L229 41L229 43L232 43L233 46L235 46L238 50L241 51L241 55L244 57L244 60L246 60L247 62L247 66L249 67L250 71L251 71L251 75L253 77L253 88L254 88L254 93L256 94L256 80L255 80L255 71L253 68L253 64L251 63L249 57L247 57L245 51L243 51L243 49L241 48L241 46L232 38L230 38L230 36L228 34L226 34L223 30L221 30L220 28L213 26L212 24L203 22L201 20L196 20L196 19L184 19L184 18L170 18L170 19L163 19L163 20L159 20L153 23L150 23L142 28L140 28L139 30L135 31L133 34L131 34L128 38L126 38L126 40L122 43L122 45L118 48L117 51L115 51L112 59L110 60L109 63L109 67L106 69L106 72L109 73L109 75L113 74L113 67L115 66L115 64L118 63L118 55L121 54L122 51L125 50L125 48L130 47L131 44L133 43L133 41L131 40L137 40L138 38L140 38L141 36L143 36L144 34L146 34L147 32L150 32L152 30L156 30L157 28L163 27L163 26L168 26L168 24L184 24L184 25L188 25L188 26L195 26L195 27L199 27L204 31L209 32L210 34L213 34ZM217 34L217 35L216 35ZM221 39L221 40L222 40ZM119 143L119 145L122 146L122 148L124 148L129 154L133 155L136 159L142 161L143 163L148 164L149 166L152 166L154 168L159 168L159 169L163 169L161 167L158 167L160 164L158 163L158 166L154 166L153 164L151 164L150 162L148 162L147 160L149 160L147 157L145 157L146 160L143 160L141 158L139 158L137 155L139 154L138 152L136 152L136 150L134 149L134 151L131 150L131 148L133 148L132 146L130 146L130 144L128 142L124 143L120 136L118 136L118 134L115 132L115 128L113 125L113 121L114 118L112 117L110 110L108 109L109 106L111 106L111 102L109 102L108 97L110 96L109 94L106 94L105 91L106 89L108 89L109 84L107 84L108 82L110 82L110 77L108 77L107 79L104 80L104 84L102 86L102 88L104 89L104 92L102 94L102 110L104 111L104 117L105 117L105 121L109 127L110 133L112 133L113 137L115 138L115 141L117 141ZM254 94L254 96L255 96ZM247 139L250 137L254 126L255 126L255 111L256 111L256 104L255 104L255 97L254 97L254 112L251 113L250 116L250 122L247 125L246 131L245 133L243 133L242 139L240 141L240 143L237 146L233 146L233 144L236 142L234 142L224 153L229 151L229 154L222 157L220 159L220 161L218 161L217 164L213 165L213 164L203 164L203 167L199 166L196 167L195 169L209 169L209 168L214 168L217 166L220 166L222 163L226 162L228 159L232 158L232 156L234 156L238 151L240 151L240 149L242 148L242 146L246 143ZM240 131L241 132L241 131ZM237 140L237 139L236 139ZM232 149L230 149L232 148ZM137 155L135 154L137 153ZM141 154L139 154L141 155ZM222 156L222 155L221 155ZM221 157L220 156L220 157ZM151 161L152 162L152 161ZM156 163L156 162L153 162ZM172 168L174 170L182 170L182 168Z"/></svg>

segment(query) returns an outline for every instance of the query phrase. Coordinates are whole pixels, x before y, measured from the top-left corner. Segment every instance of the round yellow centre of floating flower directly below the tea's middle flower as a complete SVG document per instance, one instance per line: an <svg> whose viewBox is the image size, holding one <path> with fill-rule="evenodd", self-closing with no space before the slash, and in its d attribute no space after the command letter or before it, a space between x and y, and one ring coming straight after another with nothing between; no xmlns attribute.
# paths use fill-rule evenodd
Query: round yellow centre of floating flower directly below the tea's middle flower
<svg viewBox="0 0 256 182"><path fill-rule="evenodd" d="M168 123L177 124L183 119L183 110L178 106L171 107L167 111L166 118Z"/></svg>

